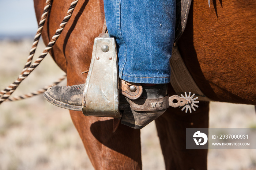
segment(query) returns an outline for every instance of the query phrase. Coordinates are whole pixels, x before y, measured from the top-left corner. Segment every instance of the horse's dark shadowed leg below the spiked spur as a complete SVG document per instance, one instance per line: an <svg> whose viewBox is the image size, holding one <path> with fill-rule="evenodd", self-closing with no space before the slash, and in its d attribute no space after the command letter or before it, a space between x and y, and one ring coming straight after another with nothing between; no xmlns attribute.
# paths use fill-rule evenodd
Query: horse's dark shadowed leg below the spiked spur
<svg viewBox="0 0 256 170"><path fill-rule="evenodd" d="M195 112L170 107L155 120L166 169L207 169L207 149L186 149L186 128L208 128L208 112L209 102L200 101Z"/></svg>

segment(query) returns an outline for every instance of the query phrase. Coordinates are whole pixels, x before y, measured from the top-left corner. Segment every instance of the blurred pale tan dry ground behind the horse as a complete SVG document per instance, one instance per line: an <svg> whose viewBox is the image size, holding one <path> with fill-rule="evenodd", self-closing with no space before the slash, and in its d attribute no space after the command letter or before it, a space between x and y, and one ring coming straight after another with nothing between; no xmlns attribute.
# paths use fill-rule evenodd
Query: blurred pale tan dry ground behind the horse
<svg viewBox="0 0 256 170"><path fill-rule="evenodd" d="M16 80L31 44L30 39L0 41L0 90ZM36 57L43 48L40 43ZM62 75L64 72L47 56L15 94L37 90ZM255 128L254 106L212 102L210 127ZM141 130L141 138L143 169L165 169L154 122ZM68 111L49 104L42 95L0 105L0 170L16 169L93 169ZM208 169L256 169L256 150L211 149Z"/></svg>

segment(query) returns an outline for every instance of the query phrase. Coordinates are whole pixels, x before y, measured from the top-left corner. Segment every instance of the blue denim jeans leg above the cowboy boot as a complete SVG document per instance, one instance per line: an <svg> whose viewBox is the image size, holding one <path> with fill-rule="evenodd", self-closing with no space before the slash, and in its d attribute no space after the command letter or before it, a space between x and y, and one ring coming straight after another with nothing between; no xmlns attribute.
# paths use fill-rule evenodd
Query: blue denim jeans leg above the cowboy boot
<svg viewBox="0 0 256 170"><path fill-rule="evenodd" d="M117 42L119 78L136 83L170 82L175 0L104 0L110 37Z"/></svg>

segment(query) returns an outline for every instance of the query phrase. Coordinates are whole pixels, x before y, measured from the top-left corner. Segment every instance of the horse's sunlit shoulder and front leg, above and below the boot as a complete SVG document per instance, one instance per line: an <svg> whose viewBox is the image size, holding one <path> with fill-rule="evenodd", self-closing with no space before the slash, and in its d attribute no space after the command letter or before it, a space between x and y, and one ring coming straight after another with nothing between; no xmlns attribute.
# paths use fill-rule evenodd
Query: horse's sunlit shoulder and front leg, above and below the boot
<svg viewBox="0 0 256 170"><path fill-rule="evenodd" d="M37 19L45 1L34 0ZM45 44L53 36L72 0L54 0L46 20L42 38ZM103 13L104 14L104 13ZM101 33L104 21L98 0L79 1L63 33L53 46L52 57L67 72L67 84L83 84L89 69L93 40ZM104 83L104 82L102 82ZM140 131L119 125L113 131L113 118L86 117L70 111L72 121L95 169L141 169Z"/></svg>

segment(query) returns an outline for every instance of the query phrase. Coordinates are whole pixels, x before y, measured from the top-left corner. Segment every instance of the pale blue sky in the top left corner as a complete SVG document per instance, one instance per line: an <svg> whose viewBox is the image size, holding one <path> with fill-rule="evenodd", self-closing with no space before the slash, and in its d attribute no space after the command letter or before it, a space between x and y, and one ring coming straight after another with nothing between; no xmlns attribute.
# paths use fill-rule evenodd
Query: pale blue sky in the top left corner
<svg viewBox="0 0 256 170"><path fill-rule="evenodd" d="M33 0L0 0L0 35L34 35L36 31Z"/></svg>

